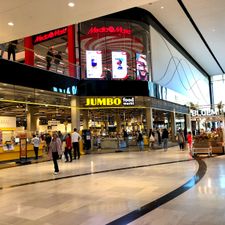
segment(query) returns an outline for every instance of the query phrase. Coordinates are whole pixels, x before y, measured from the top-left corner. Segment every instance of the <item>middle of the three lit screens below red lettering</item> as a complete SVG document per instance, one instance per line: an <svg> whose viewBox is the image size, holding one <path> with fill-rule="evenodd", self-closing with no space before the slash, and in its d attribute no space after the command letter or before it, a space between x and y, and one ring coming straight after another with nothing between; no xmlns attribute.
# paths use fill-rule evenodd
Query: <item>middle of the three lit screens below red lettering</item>
<svg viewBox="0 0 225 225"><path fill-rule="evenodd" d="M127 76L127 53L112 52L112 76L123 79Z"/></svg>

